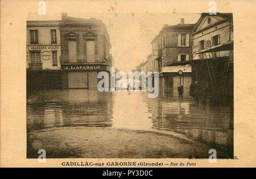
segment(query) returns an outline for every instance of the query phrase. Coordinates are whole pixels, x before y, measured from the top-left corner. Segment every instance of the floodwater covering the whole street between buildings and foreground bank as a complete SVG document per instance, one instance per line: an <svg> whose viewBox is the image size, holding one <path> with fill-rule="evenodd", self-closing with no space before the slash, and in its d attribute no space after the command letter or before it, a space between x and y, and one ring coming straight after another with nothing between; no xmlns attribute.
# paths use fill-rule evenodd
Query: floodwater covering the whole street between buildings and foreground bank
<svg viewBox="0 0 256 179"><path fill-rule="evenodd" d="M32 91L27 94L27 132L62 126L162 129L209 143L232 145L229 106L211 106L173 94L148 98L145 91Z"/></svg>

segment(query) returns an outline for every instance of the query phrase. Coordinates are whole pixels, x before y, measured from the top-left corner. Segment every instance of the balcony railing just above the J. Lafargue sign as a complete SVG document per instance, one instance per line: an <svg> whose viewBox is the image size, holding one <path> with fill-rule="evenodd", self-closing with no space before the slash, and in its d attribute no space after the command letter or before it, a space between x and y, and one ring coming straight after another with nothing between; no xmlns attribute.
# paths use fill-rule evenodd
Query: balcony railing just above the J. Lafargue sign
<svg viewBox="0 0 256 179"><path fill-rule="evenodd" d="M94 63L105 63L105 64L111 63L111 60L109 60L108 58L103 57L103 56L98 58L96 55L94 58L95 58ZM86 59L86 55L77 55L77 56L61 55L60 63L68 64L68 63L89 63L89 62Z"/></svg>

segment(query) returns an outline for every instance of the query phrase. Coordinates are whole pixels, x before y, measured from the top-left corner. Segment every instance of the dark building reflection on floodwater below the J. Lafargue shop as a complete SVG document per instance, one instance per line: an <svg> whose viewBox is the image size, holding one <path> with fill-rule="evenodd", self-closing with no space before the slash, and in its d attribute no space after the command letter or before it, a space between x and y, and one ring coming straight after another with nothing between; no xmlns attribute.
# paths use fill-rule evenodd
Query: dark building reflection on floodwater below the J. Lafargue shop
<svg viewBox="0 0 256 179"><path fill-rule="evenodd" d="M112 126L112 93L44 90L28 95L27 131L51 126Z"/></svg>

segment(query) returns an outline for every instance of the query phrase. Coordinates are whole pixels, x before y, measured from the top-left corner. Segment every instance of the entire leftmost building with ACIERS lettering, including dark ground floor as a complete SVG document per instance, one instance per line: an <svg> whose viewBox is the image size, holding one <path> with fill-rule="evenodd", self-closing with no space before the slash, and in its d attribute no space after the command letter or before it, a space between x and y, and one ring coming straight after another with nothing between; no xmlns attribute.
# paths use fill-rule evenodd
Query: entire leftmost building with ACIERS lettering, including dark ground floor
<svg viewBox="0 0 256 179"><path fill-rule="evenodd" d="M59 89L59 20L27 20L27 91Z"/></svg>

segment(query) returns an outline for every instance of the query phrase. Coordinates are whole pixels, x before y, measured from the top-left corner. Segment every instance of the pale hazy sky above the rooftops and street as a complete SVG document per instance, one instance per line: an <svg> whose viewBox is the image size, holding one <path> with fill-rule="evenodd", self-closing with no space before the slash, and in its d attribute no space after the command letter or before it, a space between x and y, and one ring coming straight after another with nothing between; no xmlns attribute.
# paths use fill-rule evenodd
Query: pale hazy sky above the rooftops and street
<svg viewBox="0 0 256 179"><path fill-rule="evenodd" d="M118 70L129 72L151 54L151 41L164 24L175 25L180 18L185 23L196 23L200 14L178 13L73 13L65 11L68 16L76 18L96 18L105 23L112 44L114 66ZM61 13L39 16L37 13L27 15L27 20L60 20Z"/></svg>

